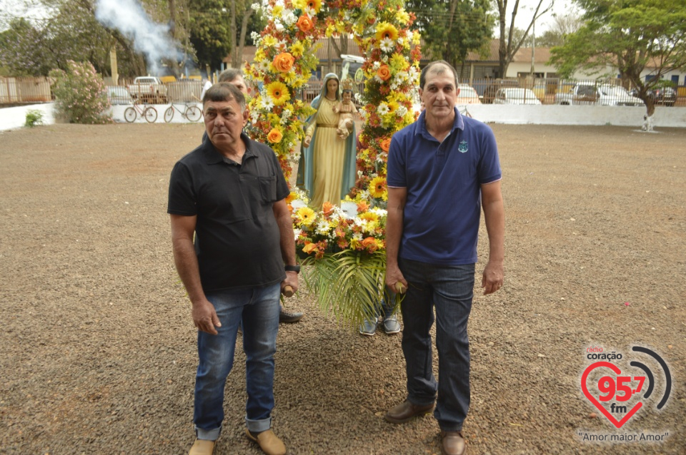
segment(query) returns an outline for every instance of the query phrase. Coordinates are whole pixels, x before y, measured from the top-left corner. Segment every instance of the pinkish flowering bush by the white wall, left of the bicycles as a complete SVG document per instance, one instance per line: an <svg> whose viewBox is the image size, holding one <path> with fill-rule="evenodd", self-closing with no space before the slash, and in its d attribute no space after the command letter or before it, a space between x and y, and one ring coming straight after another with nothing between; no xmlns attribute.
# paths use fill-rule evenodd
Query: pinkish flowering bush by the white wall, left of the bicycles
<svg viewBox="0 0 686 455"><path fill-rule="evenodd" d="M67 71L50 71L57 113L69 123L112 123L101 76L89 62L67 62Z"/></svg>

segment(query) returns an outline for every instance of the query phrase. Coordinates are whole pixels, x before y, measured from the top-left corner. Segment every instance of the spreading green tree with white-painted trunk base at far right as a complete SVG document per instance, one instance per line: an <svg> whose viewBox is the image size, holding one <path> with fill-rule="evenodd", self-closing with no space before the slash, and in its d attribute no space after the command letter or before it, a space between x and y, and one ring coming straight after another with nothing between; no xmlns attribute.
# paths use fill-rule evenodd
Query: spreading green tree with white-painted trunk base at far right
<svg viewBox="0 0 686 455"><path fill-rule="evenodd" d="M686 0L577 0L585 25L552 48L550 63L563 77L575 71L617 68L638 89L647 116L655 105L647 92L668 71L686 68ZM650 65L652 76L641 73ZM649 125L652 123L649 119Z"/></svg>

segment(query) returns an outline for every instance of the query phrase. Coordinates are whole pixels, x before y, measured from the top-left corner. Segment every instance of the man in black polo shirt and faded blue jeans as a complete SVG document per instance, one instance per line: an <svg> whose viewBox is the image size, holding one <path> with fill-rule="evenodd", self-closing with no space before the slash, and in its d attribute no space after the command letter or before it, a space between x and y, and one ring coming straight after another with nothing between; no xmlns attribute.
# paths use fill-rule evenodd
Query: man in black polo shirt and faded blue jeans
<svg viewBox="0 0 686 455"><path fill-rule="evenodd" d="M241 91L215 84L205 93L203 111L207 139L174 165L167 209L174 262L198 327L197 441L189 454L214 451L241 321L246 433L265 453L285 454L271 430L271 413L279 294L298 286L289 189L274 151L242 133L247 111Z"/></svg>

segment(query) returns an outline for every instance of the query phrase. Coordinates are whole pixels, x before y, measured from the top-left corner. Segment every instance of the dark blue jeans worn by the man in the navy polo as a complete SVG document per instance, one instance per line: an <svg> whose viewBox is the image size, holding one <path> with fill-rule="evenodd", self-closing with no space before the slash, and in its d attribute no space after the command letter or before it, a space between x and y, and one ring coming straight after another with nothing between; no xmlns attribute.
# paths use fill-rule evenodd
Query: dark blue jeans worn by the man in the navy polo
<svg viewBox="0 0 686 455"><path fill-rule="evenodd" d="M474 295L474 264L431 265L400 259L398 265L409 285L400 305L407 399L417 405L436 401L434 416L440 428L462 430L469 410L467 321ZM434 308L438 382L432 369L429 334Z"/></svg>

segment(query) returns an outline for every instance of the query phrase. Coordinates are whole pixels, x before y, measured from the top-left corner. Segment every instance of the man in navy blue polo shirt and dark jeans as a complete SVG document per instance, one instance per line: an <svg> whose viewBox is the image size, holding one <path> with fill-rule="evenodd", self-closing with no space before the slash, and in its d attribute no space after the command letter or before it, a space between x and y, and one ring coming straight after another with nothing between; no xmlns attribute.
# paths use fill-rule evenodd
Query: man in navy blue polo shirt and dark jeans
<svg viewBox="0 0 686 455"><path fill-rule="evenodd" d="M489 239L484 294L502 286L504 208L491 129L455 108L457 72L445 61L422 71L425 110L395 133L388 156L386 284L406 292L401 311L407 399L386 414L401 424L434 409L446 455L464 453L469 409L469 339L479 216ZM429 334L436 312L439 380ZM438 399L437 399L438 396Z"/></svg>

